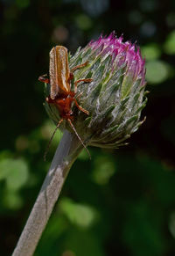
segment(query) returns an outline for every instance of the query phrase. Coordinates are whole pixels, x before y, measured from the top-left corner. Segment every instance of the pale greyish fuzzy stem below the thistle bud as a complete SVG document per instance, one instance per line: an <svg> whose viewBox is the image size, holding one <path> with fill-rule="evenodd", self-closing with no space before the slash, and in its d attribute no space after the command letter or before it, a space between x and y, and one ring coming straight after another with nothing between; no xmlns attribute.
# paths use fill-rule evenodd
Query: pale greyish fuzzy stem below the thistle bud
<svg viewBox="0 0 175 256"><path fill-rule="evenodd" d="M81 150L77 136L65 131L12 256L31 256L35 251L66 176Z"/></svg>

